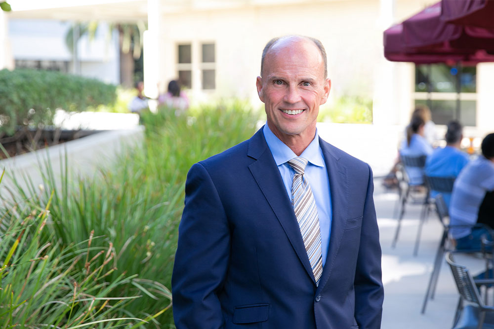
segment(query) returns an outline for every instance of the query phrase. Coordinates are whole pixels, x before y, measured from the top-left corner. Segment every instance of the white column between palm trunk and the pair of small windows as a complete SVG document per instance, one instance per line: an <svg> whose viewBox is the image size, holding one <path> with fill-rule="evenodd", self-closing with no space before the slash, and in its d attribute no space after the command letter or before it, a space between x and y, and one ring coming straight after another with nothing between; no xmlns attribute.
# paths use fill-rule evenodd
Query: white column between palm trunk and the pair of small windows
<svg viewBox="0 0 494 329"><path fill-rule="evenodd" d="M144 94L158 97L161 63L161 0L148 0L148 30L144 33ZM162 82L163 83L163 82Z"/></svg>

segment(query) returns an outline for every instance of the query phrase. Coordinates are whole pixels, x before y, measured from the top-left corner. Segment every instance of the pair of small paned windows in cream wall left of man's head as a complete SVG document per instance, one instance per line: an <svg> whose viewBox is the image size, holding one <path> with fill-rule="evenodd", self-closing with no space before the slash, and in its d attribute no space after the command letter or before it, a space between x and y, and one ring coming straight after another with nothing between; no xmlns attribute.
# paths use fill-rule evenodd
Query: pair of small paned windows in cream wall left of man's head
<svg viewBox="0 0 494 329"><path fill-rule="evenodd" d="M200 72L199 79L203 90L216 88L216 52L213 42L177 45L177 73L181 85L189 89L193 85L198 86L196 82L193 83L193 79L194 81L198 79L195 74L192 74L193 71Z"/></svg>

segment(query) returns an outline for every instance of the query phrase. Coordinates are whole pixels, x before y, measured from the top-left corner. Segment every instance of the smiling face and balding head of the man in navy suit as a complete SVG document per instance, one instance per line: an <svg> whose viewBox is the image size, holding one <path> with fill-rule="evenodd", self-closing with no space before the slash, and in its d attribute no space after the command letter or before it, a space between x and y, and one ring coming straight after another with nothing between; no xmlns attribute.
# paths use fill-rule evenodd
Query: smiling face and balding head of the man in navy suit
<svg viewBox="0 0 494 329"><path fill-rule="evenodd" d="M269 128L287 145L300 138L307 146L331 86L319 49L303 38L279 40L266 54L261 74L256 87Z"/></svg>

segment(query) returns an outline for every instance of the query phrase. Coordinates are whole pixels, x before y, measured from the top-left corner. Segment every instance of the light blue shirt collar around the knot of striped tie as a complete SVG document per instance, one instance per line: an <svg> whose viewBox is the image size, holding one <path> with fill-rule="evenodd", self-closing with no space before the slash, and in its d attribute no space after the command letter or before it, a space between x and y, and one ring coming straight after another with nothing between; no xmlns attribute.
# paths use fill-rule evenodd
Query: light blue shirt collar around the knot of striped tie
<svg viewBox="0 0 494 329"><path fill-rule="evenodd" d="M264 138L266 139L266 143L268 144L268 147L273 154L273 158L275 159L277 166L284 164L288 160L291 160L297 156L285 143L280 141L280 139L276 137L275 134L273 134L271 129L269 129L267 122L264 125L262 132L264 134ZM309 144L309 146L304 149L300 156L307 159L315 166L324 167L323 152L319 147L319 134L317 132L317 128L314 139Z"/></svg>

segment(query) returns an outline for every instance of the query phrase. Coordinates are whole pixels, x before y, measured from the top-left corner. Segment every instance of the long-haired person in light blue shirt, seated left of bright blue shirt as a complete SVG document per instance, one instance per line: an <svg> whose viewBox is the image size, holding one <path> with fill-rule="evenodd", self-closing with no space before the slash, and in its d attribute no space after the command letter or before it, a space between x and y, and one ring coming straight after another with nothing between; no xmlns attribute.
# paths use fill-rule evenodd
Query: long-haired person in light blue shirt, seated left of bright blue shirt
<svg viewBox="0 0 494 329"><path fill-rule="evenodd" d="M425 122L420 116L413 116L407 127L407 139L400 146L400 155L420 156L432 153L432 146L424 138ZM407 167L407 175L410 185L421 185L424 183L423 168Z"/></svg>

